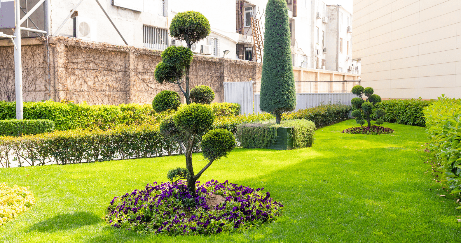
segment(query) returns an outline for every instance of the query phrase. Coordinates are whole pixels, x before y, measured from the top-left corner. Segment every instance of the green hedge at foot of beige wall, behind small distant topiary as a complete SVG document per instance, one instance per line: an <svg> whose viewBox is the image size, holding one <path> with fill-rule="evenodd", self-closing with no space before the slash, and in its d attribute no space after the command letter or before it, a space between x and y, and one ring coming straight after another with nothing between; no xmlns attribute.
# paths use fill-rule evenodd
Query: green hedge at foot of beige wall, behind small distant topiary
<svg viewBox="0 0 461 243"><path fill-rule="evenodd" d="M384 109L383 120L405 125L426 126L424 108L432 104L432 100L419 99L389 99L376 104L376 108Z"/></svg>

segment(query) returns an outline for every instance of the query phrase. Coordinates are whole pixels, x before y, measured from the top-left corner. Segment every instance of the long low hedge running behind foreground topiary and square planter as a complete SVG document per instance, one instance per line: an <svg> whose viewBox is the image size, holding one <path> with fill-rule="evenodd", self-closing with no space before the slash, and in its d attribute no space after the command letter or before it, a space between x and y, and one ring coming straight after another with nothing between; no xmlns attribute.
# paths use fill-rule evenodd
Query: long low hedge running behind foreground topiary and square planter
<svg viewBox="0 0 461 243"><path fill-rule="evenodd" d="M307 110L311 110L313 115L309 115L308 111L299 113L315 118L314 123L331 124L347 117L349 108L326 105ZM325 114L321 114L322 110ZM335 118L334 114L340 117ZM273 118L267 113L225 116L215 119L213 128L224 128L235 135L238 125L242 123ZM75 129L23 137L0 137L0 166L9 167L12 156L17 157L20 164L44 165L50 162L69 164L144 158L181 152L176 142L161 135L158 126L158 123L146 123L120 125L107 130Z"/></svg>

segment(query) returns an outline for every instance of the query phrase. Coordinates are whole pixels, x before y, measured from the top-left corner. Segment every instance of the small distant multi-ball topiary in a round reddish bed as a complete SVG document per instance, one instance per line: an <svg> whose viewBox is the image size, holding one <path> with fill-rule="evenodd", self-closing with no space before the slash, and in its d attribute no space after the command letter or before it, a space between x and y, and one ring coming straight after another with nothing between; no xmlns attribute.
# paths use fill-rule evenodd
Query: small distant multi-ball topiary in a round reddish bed
<svg viewBox="0 0 461 243"><path fill-rule="evenodd" d="M373 107L376 103L381 102L381 97L377 94L373 94L374 91L372 87L363 88L360 85L356 85L352 88L351 92L358 96L350 100L350 103L355 108L355 110L352 111L352 116L355 117L357 124L363 126L366 121L368 127L371 127L371 125L374 124L381 125L384 123L384 120L380 117L386 115L386 111L383 109L376 109L373 112ZM363 94L368 97L366 100L362 98ZM376 120L376 122L371 123L373 120Z"/></svg>

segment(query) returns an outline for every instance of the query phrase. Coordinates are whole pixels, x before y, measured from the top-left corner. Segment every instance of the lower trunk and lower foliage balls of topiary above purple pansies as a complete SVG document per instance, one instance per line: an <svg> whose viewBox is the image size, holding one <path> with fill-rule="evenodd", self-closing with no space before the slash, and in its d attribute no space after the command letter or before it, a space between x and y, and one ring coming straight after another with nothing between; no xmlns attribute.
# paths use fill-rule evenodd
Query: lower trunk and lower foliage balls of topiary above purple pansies
<svg viewBox="0 0 461 243"><path fill-rule="evenodd" d="M191 193L195 193L195 182L201 174L222 156L226 156L235 147L234 135L224 129L213 129L206 133L201 140L203 156L209 161L208 164L194 174L192 165L192 149L195 139L214 122L214 114L209 106L202 104L189 104L180 109L176 115L166 117L160 123L160 131L165 136L171 136L177 140L186 157L187 187ZM185 173L181 169L169 172L168 178L181 178Z"/></svg>

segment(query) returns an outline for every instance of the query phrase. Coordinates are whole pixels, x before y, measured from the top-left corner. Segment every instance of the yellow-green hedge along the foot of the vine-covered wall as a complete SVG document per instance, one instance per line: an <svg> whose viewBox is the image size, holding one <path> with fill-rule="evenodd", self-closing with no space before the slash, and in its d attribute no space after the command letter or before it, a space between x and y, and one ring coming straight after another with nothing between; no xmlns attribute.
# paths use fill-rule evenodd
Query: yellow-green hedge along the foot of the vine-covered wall
<svg viewBox="0 0 461 243"><path fill-rule="evenodd" d="M169 111L155 113L150 104L89 105L60 103L51 100L24 102L24 119L47 119L56 130L76 128L108 129L123 124L158 122ZM16 102L0 101L0 120L16 118Z"/></svg>

